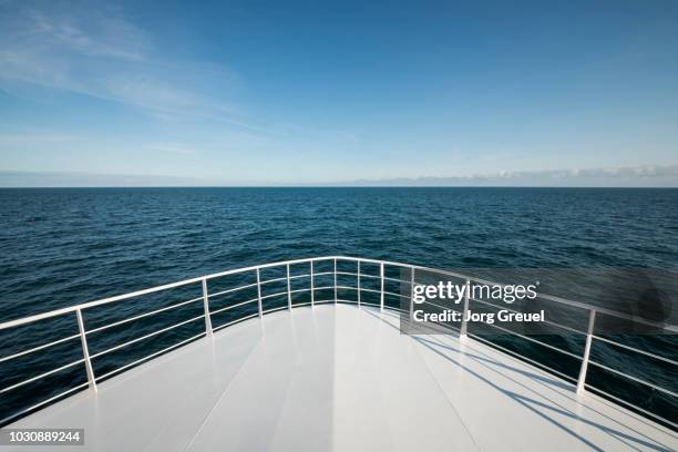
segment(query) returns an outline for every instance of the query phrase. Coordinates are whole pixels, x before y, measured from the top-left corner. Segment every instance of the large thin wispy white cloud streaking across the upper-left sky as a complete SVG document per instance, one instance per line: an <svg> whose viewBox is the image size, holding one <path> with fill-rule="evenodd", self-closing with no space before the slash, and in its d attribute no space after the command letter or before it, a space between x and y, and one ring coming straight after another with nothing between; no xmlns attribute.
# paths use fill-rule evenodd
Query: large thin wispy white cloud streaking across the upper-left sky
<svg viewBox="0 0 678 452"><path fill-rule="evenodd" d="M209 148L216 155L290 142L315 150L356 142L340 130L257 114L243 99L239 74L223 63L179 60L162 35L136 23L137 18L103 0L0 1L0 92L33 102L43 102L50 91L76 93L141 111L157 129L150 127L146 137L127 130L120 135L130 135L126 143L185 143L162 146L175 154ZM158 130L172 136L154 136ZM111 147L120 144L112 140L100 136ZM40 148L38 138L11 141L0 144Z"/></svg>

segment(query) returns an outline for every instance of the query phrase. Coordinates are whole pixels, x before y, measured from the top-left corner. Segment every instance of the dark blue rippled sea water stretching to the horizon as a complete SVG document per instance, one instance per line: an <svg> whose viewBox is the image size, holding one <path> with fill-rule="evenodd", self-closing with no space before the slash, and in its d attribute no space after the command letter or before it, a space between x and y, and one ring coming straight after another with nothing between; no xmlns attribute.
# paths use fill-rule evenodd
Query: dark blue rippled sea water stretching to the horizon
<svg viewBox="0 0 678 452"><path fill-rule="evenodd" d="M675 268L678 189L0 189L0 321L224 269L321 255L455 270ZM164 300L143 306L155 302ZM115 309L131 315L140 304ZM117 314L93 312L85 320L95 326ZM176 320L172 316L166 321ZM129 340L147 327L140 323L100 343L93 339L93 347ZM73 322L37 328L72 332ZM31 346L31 336L38 335L0 335L0 357ZM155 343L172 340L176 336ZM675 345L671 340L661 343ZM42 355L39 366L33 358L0 362L0 388L19 374L25 378L24 369L35 369L30 377L78 359L78 350L58 347ZM127 359L106 358L95 370L101 374ZM671 372L659 373L678 380ZM80 383L82 373L55 376L31 393ZM658 397L650 391L638 403L659 403L655 408L666 415L671 405ZM0 419L31 398L6 397Z"/></svg>

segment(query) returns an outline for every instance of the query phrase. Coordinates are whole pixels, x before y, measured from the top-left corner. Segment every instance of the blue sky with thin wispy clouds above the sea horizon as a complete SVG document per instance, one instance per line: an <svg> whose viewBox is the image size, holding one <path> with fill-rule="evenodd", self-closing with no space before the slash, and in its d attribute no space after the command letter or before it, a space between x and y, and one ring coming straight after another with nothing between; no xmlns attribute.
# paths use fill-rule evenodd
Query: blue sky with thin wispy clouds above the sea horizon
<svg viewBox="0 0 678 452"><path fill-rule="evenodd" d="M674 0L0 0L0 186L678 186L677 81Z"/></svg>

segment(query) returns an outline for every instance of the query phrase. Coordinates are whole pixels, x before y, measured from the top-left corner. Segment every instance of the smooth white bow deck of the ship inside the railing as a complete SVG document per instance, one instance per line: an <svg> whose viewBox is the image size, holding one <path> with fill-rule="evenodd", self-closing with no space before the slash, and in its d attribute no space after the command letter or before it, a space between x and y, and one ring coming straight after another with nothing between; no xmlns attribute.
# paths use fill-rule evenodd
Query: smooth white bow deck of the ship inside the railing
<svg viewBox="0 0 678 452"><path fill-rule="evenodd" d="M84 428L75 451L678 450L476 341L401 336L397 314L346 305L235 325L11 425L48 427Z"/></svg>

